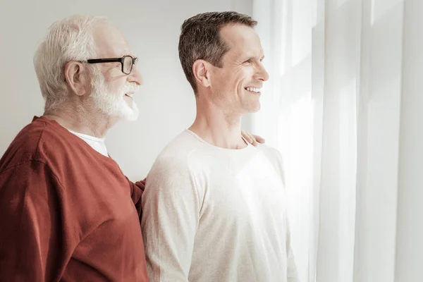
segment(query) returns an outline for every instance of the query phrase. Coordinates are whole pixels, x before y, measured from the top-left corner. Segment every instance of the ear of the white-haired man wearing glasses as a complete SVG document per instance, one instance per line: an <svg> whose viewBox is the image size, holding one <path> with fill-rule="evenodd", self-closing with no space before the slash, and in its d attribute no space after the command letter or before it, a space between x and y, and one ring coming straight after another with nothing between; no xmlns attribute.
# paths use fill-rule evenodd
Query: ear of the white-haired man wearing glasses
<svg viewBox="0 0 423 282"><path fill-rule="evenodd" d="M66 63L64 70L65 80L71 91L78 96L87 94L89 89L90 77L88 68L77 61L70 61Z"/></svg>

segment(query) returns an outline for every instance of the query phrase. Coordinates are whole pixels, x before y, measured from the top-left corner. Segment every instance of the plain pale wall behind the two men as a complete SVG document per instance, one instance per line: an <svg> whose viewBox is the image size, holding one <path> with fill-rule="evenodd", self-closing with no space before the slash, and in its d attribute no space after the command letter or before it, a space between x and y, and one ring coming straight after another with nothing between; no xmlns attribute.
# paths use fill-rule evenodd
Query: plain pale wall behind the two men
<svg viewBox="0 0 423 282"><path fill-rule="evenodd" d="M0 156L33 116L42 115L32 55L49 25L74 13L106 16L128 37L144 76L135 97L140 118L118 123L106 137L124 173L139 180L195 117L195 99L178 59L183 20L205 11L251 14L252 0L0 0L0 7Z"/></svg>

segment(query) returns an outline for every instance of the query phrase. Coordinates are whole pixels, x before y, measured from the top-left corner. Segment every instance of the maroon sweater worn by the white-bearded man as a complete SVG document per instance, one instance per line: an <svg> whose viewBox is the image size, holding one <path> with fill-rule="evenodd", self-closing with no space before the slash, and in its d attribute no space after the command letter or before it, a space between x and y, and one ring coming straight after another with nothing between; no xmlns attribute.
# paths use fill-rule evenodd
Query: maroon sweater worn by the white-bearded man
<svg viewBox="0 0 423 282"><path fill-rule="evenodd" d="M0 159L0 281L148 281L142 188L35 117Z"/></svg>

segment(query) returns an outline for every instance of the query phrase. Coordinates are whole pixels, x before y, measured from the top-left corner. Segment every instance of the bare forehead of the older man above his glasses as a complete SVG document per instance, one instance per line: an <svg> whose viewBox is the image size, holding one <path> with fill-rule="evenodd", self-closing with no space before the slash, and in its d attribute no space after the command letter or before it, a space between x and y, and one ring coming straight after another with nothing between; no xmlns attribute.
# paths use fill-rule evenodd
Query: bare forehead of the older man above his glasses
<svg viewBox="0 0 423 282"><path fill-rule="evenodd" d="M93 38L99 58L121 57L132 54L128 40L114 25L98 23L94 26Z"/></svg>

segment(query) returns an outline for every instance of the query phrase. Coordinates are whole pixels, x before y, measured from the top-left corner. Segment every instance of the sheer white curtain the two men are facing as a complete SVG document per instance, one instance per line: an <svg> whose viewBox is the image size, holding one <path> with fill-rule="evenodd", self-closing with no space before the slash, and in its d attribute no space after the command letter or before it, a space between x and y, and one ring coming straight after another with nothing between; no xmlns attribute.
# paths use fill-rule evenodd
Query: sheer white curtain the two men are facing
<svg viewBox="0 0 423 282"><path fill-rule="evenodd" d="M423 281L423 1L253 0L302 282Z"/></svg>

